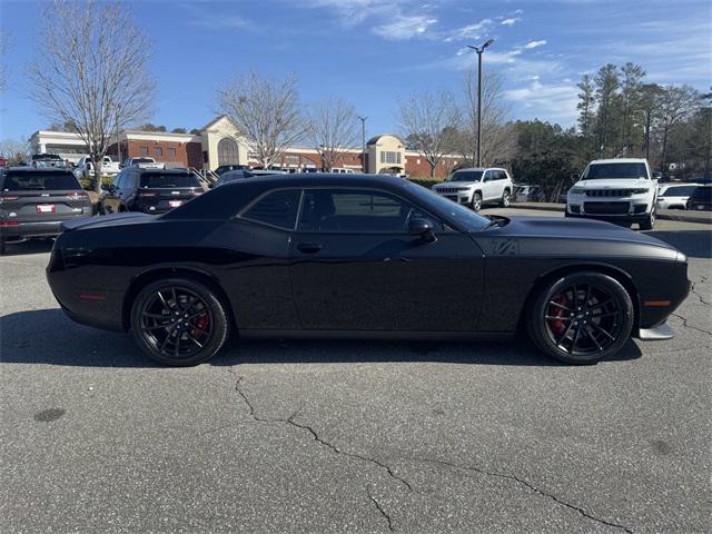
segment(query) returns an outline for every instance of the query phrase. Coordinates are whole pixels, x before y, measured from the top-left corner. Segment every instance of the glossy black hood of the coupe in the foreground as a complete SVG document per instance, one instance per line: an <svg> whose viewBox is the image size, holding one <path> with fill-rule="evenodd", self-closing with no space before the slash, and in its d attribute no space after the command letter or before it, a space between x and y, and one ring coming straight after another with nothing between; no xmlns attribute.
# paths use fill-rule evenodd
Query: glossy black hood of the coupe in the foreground
<svg viewBox="0 0 712 534"><path fill-rule="evenodd" d="M512 217L508 224L473 235L491 254L537 256L633 256L674 260L678 249L646 234L593 219ZM508 243L507 247L503 247ZM504 251L503 251L504 250Z"/></svg>

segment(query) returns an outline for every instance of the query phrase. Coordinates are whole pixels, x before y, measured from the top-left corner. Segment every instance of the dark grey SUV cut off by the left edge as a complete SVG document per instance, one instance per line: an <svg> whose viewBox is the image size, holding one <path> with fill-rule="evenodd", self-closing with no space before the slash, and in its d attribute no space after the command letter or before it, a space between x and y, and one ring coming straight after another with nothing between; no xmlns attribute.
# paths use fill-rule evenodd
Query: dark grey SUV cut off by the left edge
<svg viewBox="0 0 712 534"><path fill-rule="evenodd" d="M75 175L62 168L0 170L0 254L7 241L58 236L59 225L91 216L91 201Z"/></svg>

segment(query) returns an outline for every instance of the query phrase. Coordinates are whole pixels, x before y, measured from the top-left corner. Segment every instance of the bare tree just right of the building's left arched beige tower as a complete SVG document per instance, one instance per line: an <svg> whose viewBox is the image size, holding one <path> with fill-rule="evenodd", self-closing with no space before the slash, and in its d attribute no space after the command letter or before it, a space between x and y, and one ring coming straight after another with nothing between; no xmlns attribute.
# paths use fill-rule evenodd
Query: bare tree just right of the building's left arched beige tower
<svg viewBox="0 0 712 534"><path fill-rule="evenodd" d="M251 71L219 89L217 101L265 168L305 135L295 75L275 81Z"/></svg>

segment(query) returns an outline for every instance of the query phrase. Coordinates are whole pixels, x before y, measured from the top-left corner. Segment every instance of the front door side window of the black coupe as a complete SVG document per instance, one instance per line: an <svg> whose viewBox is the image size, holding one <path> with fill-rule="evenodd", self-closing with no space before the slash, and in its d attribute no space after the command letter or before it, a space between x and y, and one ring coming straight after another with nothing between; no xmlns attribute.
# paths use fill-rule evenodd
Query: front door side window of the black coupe
<svg viewBox="0 0 712 534"><path fill-rule="evenodd" d="M312 189L305 191L300 231L405 233L411 218L443 225L405 200L380 191Z"/></svg>

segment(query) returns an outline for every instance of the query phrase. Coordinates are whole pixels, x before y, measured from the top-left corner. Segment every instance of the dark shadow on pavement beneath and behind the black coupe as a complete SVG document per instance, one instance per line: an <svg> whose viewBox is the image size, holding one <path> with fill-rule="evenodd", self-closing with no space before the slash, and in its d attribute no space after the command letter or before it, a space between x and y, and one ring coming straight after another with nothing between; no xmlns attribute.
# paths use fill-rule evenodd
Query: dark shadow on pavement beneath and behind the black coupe
<svg viewBox="0 0 712 534"><path fill-rule="evenodd" d="M640 358L630 342L611 362ZM0 362L83 367L160 367L129 334L72 323L60 309L18 312L0 317ZM349 342L231 339L211 362L237 364L334 364L428 362L474 365L560 366L526 342Z"/></svg>

